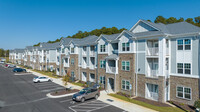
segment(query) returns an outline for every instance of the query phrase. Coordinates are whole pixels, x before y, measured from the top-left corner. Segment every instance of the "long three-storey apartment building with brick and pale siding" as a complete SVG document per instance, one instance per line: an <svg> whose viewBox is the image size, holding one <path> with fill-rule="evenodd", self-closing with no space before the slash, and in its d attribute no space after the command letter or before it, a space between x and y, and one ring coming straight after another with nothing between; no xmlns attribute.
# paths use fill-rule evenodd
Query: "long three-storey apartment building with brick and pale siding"
<svg viewBox="0 0 200 112"><path fill-rule="evenodd" d="M100 83L108 92L193 105L200 97L199 35L200 28L186 22L139 20L119 34L63 38L28 46L22 54L24 65Z"/></svg>

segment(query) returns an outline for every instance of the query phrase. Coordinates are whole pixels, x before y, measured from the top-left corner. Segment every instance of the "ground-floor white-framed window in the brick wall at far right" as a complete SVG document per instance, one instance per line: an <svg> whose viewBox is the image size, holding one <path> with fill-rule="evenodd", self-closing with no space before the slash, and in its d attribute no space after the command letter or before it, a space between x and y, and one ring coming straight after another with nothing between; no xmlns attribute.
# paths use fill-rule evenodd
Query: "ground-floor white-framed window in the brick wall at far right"
<svg viewBox="0 0 200 112"><path fill-rule="evenodd" d="M176 94L179 98L191 99L191 88L179 86L176 88Z"/></svg>

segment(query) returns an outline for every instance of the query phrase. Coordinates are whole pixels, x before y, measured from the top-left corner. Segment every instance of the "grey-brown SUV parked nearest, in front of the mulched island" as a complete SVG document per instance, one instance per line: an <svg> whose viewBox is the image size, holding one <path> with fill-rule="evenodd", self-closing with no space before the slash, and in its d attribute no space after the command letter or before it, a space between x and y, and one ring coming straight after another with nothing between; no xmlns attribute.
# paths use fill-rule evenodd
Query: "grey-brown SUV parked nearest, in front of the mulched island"
<svg viewBox="0 0 200 112"><path fill-rule="evenodd" d="M95 98L100 96L100 90L97 88L84 88L78 93L74 94L72 100L84 102L86 99Z"/></svg>

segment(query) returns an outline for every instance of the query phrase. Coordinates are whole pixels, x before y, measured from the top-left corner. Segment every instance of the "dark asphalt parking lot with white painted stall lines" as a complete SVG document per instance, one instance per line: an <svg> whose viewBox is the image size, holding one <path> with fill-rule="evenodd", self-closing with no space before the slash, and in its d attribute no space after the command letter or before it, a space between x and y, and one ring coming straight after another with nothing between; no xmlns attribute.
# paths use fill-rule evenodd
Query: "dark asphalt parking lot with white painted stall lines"
<svg viewBox="0 0 200 112"><path fill-rule="evenodd" d="M65 89L54 82L33 83L35 75L14 75L12 68L0 66L0 112L123 112L99 100L84 103L72 96L48 98L47 93Z"/></svg>

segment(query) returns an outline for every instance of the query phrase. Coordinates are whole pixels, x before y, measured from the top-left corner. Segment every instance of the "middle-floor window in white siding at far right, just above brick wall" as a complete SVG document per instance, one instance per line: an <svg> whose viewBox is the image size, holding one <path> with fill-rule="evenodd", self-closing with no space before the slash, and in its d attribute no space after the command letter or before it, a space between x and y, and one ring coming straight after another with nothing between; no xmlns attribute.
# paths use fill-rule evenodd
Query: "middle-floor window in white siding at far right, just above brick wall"
<svg viewBox="0 0 200 112"><path fill-rule="evenodd" d="M191 74L190 63L177 63L177 72L181 74Z"/></svg>

